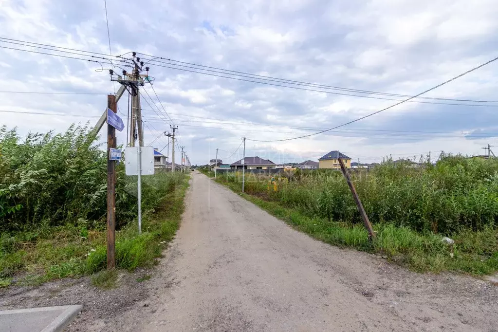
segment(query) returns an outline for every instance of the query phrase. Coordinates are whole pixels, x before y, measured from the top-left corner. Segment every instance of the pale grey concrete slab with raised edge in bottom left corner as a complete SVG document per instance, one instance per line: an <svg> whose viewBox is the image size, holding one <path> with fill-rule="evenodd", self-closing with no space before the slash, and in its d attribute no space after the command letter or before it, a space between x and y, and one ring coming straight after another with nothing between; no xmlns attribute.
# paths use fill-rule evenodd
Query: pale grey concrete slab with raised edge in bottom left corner
<svg viewBox="0 0 498 332"><path fill-rule="evenodd" d="M59 306L0 311L2 332L58 332L71 322L83 306Z"/></svg>

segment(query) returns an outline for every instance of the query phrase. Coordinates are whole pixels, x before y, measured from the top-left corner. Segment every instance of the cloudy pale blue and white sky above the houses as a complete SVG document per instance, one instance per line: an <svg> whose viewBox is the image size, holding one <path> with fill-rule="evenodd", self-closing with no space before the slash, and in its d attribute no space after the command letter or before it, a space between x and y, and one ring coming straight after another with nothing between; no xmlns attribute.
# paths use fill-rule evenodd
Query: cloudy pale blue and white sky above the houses
<svg viewBox="0 0 498 332"><path fill-rule="evenodd" d="M0 0L0 7L0 37L110 52L104 0ZM176 60L148 64L155 81L142 89L145 143L159 136L153 145L163 149L167 138L161 132L173 122L192 164L215 158L216 148L224 162L237 160L242 148L227 158L244 136L247 156L276 163L316 160L330 150L378 162L390 154L418 160L429 151L433 157L441 150L475 155L484 154L488 143L498 146L498 61L424 95L440 99L417 99L422 103L407 102L308 138L249 140L335 127L406 98L393 94L416 95L497 57L495 1L107 0L107 9L113 56L136 51L142 59ZM16 126L20 135L93 124L107 105L106 94L119 88L110 81L109 61L5 48L90 59L79 51L15 43L0 39L0 124ZM127 108L125 96L119 103L124 118ZM125 143L123 132L118 144Z"/></svg>

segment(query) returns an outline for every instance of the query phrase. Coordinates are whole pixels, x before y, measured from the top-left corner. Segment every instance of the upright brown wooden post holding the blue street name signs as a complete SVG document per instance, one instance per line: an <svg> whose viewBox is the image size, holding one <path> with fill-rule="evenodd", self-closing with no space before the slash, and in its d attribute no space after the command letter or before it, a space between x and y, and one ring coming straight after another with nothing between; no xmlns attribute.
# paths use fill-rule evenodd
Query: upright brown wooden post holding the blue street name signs
<svg viewBox="0 0 498 332"><path fill-rule="evenodd" d="M107 108L117 111L115 95L107 96ZM107 125L107 268L116 268L116 161L110 160L110 149L116 148L116 128Z"/></svg>

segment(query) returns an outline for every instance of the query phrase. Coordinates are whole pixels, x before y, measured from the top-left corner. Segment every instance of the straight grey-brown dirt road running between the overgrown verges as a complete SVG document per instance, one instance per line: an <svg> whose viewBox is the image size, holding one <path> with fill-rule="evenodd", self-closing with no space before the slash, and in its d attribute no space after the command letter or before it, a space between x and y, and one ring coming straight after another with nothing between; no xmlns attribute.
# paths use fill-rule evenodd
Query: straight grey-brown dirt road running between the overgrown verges
<svg viewBox="0 0 498 332"><path fill-rule="evenodd" d="M194 172L149 298L91 331L498 331L498 287L331 247ZM80 326L81 327L81 326Z"/></svg>

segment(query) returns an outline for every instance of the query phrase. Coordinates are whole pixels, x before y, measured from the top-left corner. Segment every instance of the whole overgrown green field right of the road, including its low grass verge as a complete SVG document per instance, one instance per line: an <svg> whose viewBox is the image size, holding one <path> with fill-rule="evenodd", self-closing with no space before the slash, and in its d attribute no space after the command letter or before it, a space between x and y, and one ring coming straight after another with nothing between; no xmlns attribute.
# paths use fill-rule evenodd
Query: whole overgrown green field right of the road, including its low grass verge
<svg viewBox="0 0 498 332"><path fill-rule="evenodd" d="M269 176L249 175L244 197L333 245L385 255L418 272L485 275L498 271L497 172L495 160L447 157L424 169L386 163L352 174L376 231L372 242L340 172L296 172L277 191ZM217 181L241 191L240 174Z"/></svg>

